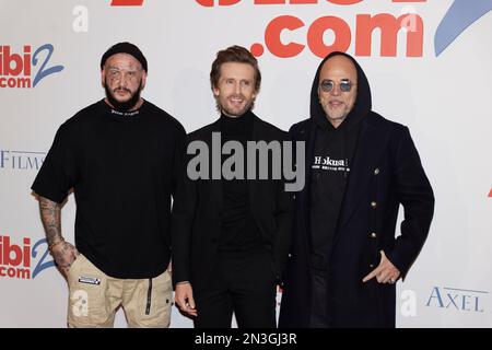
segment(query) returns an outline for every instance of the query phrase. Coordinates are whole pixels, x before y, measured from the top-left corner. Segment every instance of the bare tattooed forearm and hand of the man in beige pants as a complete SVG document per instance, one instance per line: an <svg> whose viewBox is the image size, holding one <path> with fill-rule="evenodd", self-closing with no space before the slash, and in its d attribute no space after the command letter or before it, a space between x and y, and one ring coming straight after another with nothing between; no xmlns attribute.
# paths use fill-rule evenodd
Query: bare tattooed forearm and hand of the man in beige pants
<svg viewBox="0 0 492 350"><path fill-rule="evenodd" d="M39 196L39 211L50 253L58 267L63 275L67 276L67 272L79 255L79 252L77 252L73 245L65 242L63 236L61 235L61 206Z"/></svg>

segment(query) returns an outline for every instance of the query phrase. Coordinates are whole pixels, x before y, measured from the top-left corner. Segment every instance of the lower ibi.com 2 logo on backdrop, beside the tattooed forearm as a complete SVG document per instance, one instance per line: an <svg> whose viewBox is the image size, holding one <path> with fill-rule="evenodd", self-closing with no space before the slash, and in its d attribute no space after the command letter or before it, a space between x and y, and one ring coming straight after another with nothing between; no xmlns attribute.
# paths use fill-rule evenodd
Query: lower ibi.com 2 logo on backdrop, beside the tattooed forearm
<svg viewBox="0 0 492 350"><path fill-rule="evenodd" d="M34 279L50 267L55 267L55 262L48 257L46 238L32 246L30 237L24 237L22 244L15 244L12 237L0 236L0 279Z"/></svg>

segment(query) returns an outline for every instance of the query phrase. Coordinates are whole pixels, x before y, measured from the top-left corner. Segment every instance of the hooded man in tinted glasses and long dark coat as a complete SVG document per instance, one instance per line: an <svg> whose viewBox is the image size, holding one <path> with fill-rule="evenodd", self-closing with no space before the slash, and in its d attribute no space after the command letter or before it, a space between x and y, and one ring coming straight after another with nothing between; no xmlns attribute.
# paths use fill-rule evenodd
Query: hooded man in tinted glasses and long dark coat
<svg viewBox="0 0 492 350"><path fill-rule="evenodd" d="M306 186L279 326L395 327L395 282L419 255L434 211L408 128L372 112L363 70L332 52L316 72L311 118L290 132L306 142Z"/></svg>

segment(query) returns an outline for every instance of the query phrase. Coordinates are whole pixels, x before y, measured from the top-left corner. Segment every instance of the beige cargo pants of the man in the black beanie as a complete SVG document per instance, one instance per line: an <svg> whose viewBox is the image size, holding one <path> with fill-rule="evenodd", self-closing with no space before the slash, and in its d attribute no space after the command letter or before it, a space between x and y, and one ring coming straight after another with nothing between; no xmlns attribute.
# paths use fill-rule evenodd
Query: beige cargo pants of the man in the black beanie
<svg viewBox="0 0 492 350"><path fill-rule="evenodd" d="M120 305L130 327L169 326L173 289L167 271L153 279L112 278L81 254L68 272L68 283L70 328L113 327Z"/></svg>

